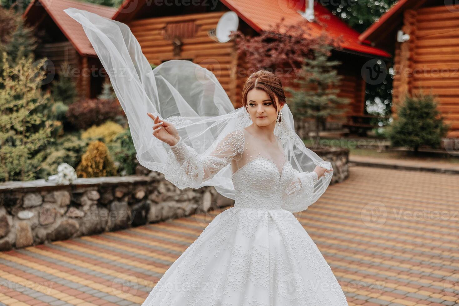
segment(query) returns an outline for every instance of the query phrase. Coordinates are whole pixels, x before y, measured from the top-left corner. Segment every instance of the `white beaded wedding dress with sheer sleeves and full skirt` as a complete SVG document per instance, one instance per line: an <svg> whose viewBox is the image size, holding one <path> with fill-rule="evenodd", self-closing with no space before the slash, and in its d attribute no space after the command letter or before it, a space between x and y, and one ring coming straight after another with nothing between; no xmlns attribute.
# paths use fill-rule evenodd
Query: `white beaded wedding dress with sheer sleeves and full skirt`
<svg viewBox="0 0 459 306"><path fill-rule="evenodd" d="M345 306L330 266L292 212L306 209L315 172L298 172L277 144L245 128L209 155L183 139L165 178L199 186L231 163L235 204L216 216L168 268L143 306ZM330 162L322 167L331 169Z"/></svg>

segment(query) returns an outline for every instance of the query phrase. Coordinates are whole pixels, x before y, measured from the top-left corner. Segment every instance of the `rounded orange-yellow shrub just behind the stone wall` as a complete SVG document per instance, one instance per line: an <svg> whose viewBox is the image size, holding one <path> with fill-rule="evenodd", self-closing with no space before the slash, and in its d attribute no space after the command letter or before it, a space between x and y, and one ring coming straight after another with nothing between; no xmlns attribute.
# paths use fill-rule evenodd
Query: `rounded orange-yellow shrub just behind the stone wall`
<svg viewBox="0 0 459 306"><path fill-rule="evenodd" d="M81 157L76 172L79 178L116 175L116 168L108 154L107 146L99 140L91 142L88 150Z"/></svg>

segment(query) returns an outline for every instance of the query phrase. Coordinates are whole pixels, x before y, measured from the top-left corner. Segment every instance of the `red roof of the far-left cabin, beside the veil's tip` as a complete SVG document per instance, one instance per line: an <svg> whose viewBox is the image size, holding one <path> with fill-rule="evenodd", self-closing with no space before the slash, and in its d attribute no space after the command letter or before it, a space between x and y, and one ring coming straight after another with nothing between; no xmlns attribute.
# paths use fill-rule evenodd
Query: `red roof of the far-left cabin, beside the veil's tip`
<svg viewBox="0 0 459 306"><path fill-rule="evenodd" d="M75 49L81 56L97 56L88 37L84 33L83 27L79 22L68 16L65 9L74 7L79 10L90 11L102 17L112 19L113 15L118 11L116 8L109 6L101 6L92 3L72 0L33 0L22 14L24 19L38 19L36 14L43 14L43 8L48 12L52 20L56 23L62 33L72 43Z"/></svg>

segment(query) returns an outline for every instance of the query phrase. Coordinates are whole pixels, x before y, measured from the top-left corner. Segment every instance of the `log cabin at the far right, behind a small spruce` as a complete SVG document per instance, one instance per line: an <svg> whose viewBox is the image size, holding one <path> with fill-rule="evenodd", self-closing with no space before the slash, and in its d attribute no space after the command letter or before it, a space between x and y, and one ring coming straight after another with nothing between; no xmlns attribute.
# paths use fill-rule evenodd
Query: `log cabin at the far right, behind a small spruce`
<svg viewBox="0 0 459 306"><path fill-rule="evenodd" d="M451 124L447 137L459 137L458 6L448 5L448 1L400 0L359 40L394 56L395 116L405 95L431 91L437 95L445 122Z"/></svg>

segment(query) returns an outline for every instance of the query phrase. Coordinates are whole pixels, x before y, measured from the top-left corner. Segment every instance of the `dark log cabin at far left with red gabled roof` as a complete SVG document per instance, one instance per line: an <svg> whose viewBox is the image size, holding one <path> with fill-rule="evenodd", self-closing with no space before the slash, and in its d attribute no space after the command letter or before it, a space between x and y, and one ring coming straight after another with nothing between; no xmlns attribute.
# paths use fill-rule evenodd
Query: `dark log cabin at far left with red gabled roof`
<svg viewBox="0 0 459 306"><path fill-rule="evenodd" d="M63 11L68 7L106 18L112 18L117 12L116 8L81 1L33 0L22 17L27 25L35 28L35 36L40 41L35 58L50 60L48 73L54 73L54 79L71 76L80 97L95 98L101 93L106 72L81 24Z"/></svg>

